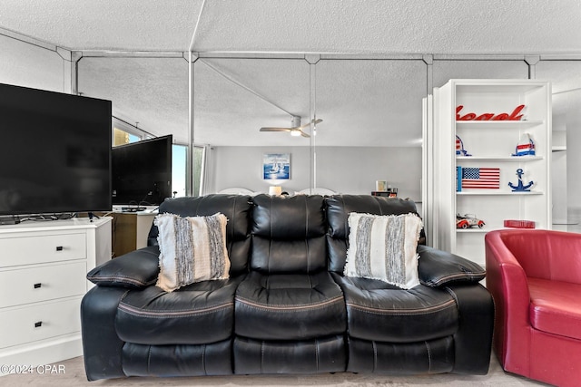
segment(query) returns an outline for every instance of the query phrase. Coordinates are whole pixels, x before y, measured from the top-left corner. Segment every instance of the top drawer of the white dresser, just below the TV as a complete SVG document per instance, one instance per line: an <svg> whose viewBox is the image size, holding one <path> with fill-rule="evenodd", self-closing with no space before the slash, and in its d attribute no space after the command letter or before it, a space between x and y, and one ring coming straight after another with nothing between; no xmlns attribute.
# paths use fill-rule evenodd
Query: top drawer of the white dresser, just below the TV
<svg viewBox="0 0 581 387"><path fill-rule="evenodd" d="M85 259L85 233L0 238L0 267Z"/></svg>

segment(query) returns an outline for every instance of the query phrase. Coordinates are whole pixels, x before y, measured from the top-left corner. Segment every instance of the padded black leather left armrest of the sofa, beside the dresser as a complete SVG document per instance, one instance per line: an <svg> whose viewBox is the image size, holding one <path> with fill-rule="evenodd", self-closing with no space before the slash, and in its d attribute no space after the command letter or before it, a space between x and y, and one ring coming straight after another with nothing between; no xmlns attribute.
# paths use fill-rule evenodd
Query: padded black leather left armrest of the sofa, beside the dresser
<svg viewBox="0 0 581 387"><path fill-rule="evenodd" d="M160 272L159 255L159 247L143 247L96 266L87 279L99 286L130 289L153 285Z"/></svg>

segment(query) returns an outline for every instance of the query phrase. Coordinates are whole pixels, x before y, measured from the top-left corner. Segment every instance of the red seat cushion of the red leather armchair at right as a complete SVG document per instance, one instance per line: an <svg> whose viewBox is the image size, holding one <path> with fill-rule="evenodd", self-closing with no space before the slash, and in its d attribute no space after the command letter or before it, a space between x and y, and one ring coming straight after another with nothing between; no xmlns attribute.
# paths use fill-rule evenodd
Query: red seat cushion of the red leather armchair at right
<svg viewBox="0 0 581 387"><path fill-rule="evenodd" d="M528 277L530 324L547 334L581 340L581 285Z"/></svg>

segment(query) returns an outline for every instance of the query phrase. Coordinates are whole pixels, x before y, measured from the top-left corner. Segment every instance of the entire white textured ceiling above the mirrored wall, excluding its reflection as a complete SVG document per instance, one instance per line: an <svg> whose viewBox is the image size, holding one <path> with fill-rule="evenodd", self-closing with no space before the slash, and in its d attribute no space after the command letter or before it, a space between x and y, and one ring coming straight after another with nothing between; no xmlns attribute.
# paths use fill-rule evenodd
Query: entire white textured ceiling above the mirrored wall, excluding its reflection
<svg viewBox="0 0 581 387"><path fill-rule="evenodd" d="M579 53L578 0L3 0L0 26L73 50ZM196 30L198 16L200 24Z"/></svg>

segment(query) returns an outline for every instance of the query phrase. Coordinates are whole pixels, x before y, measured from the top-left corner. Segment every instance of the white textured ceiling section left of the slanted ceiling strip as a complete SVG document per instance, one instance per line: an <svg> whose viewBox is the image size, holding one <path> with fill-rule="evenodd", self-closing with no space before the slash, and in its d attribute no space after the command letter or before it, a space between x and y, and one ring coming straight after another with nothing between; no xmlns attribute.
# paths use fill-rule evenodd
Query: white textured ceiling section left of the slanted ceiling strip
<svg viewBox="0 0 581 387"><path fill-rule="evenodd" d="M70 50L187 51L202 0L3 0L0 27Z"/></svg>

